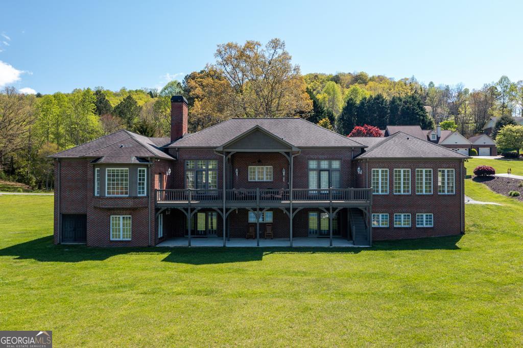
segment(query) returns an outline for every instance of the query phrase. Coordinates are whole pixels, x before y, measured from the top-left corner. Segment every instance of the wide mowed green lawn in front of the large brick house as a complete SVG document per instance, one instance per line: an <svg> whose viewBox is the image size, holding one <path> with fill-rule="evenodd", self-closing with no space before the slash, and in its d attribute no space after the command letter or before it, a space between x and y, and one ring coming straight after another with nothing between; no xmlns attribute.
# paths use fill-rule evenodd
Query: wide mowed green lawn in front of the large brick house
<svg viewBox="0 0 523 348"><path fill-rule="evenodd" d="M466 185L503 205L466 205L463 236L371 249L54 246L52 197L0 196L0 328L56 346L518 346L523 204Z"/></svg>

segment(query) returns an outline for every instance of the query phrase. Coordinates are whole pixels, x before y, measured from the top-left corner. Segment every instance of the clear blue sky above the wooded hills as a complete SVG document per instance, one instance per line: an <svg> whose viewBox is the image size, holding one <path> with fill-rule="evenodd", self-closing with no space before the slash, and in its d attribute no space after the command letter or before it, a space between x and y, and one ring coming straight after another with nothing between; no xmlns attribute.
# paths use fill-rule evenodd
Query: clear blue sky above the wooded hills
<svg viewBox="0 0 523 348"><path fill-rule="evenodd" d="M480 88L523 79L523 2L3 2L0 87L161 87L228 41L285 40L303 74ZM28 89L26 89L28 91Z"/></svg>

